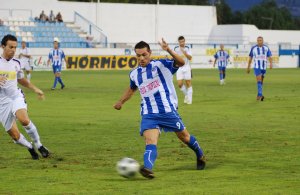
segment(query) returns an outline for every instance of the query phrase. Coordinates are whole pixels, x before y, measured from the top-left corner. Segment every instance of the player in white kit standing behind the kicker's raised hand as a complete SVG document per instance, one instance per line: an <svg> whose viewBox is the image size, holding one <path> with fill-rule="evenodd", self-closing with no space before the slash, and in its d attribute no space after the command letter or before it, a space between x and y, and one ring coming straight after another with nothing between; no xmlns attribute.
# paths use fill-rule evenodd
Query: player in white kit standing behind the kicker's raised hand
<svg viewBox="0 0 300 195"><path fill-rule="evenodd" d="M180 55L184 61L184 66L180 67L176 73L178 87L184 94L184 103L192 104L193 99L193 87L192 87L192 70L190 61L192 60L191 48L185 45L185 38L183 36L178 37L179 45L174 48L174 51ZM183 83L185 80L185 84Z"/></svg>

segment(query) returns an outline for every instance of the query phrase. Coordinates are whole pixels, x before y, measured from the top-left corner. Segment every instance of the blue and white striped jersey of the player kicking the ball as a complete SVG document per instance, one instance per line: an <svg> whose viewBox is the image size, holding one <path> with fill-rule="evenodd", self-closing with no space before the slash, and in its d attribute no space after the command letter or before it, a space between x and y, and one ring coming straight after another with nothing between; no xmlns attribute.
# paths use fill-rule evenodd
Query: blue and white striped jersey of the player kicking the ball
<svg viewBox="0 0 300 195"><path fill-rule="evenodd" d="M177 70L174 60L160 59L130 72L131 89L140 91L141 115L177 110L178 99L173 84L173 74Z"/></svg>

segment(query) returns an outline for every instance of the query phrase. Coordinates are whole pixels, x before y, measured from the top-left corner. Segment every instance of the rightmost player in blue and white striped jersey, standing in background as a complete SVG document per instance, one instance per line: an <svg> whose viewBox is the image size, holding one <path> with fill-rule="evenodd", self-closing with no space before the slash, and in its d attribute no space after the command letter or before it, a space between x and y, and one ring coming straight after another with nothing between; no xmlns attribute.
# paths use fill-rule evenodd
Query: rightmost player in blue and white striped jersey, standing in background
<svg viewBox="0 0 300 195"><path fill-rule="evenodd" d="M270 62L270 69L273 68L272 65L272 53L268 46L264 44L263 37L257 37L257 45L251 48L249 53L249 61L247 73L250 73L250 65L252 63L252 59L254 59L254 74L256 76L257 81L257 97L256 100L263 101L263 82L267 69L267 62Z"/></svg>

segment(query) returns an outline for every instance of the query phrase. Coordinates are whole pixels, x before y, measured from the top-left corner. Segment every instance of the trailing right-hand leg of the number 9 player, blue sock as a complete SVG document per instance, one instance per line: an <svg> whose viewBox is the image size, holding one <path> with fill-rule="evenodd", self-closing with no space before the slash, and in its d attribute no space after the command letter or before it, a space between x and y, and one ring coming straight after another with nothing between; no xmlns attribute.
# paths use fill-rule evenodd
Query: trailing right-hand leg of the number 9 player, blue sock
<svg viewBox="0 0 300 195"><path fill-rule="evenodd" d="M189 146L189 148L191 148L196 156L197 156L197 169L198 170L202 170L205 167L205 157L204 157L204 153L196 139L196 137L194 137L193 135L190 135L189 132L187 131L187 129L184 129L182 131L179 132L175 132L177 137L186 145Z"/></svg>

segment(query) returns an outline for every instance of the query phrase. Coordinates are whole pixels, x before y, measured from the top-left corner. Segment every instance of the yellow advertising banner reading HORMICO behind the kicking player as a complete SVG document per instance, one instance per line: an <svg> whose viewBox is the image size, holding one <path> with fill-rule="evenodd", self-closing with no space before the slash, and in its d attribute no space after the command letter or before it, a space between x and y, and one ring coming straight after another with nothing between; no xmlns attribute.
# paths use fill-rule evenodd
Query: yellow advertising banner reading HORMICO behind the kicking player
<svg viewBox="0 0 300 195"><path fill-rule="evenodd" d="M153 59L168 56L152 56ZM138 66L135 56L67 56L68 70L130 70Z"/></svg>

